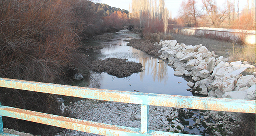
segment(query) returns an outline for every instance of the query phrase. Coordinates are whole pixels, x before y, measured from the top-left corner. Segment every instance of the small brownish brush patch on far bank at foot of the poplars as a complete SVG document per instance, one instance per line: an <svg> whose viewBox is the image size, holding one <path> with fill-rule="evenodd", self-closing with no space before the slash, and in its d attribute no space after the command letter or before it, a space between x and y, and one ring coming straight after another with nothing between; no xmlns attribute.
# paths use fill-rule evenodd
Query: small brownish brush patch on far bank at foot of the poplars
<svg viewBox="0 0 256 136"><path fill-rule="evenodd" d="M173 40L171 35L164 35L162 32L157 33L145 33L143 34L143 38L145 40L151 41L152 43L159 43L160 40Z"/></svg>

